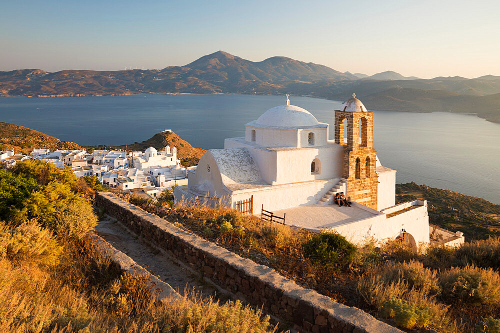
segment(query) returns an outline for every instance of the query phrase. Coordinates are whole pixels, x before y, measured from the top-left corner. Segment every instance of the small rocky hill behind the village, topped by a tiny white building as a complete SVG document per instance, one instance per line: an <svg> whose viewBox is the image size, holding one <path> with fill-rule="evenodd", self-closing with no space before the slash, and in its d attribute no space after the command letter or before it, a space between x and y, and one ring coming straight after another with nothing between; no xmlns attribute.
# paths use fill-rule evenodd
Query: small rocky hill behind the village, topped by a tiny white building
<svg viewBox="0 0 500 333"><path fill-rule="evenodd" d="M177 158L180 159L180 162L184 166L197 165L199 158L206 151L201 148L194 148L189 144L189 142L182 140L177 134L173 132L156 133L151 138L140 143L126 145L126 149L144 151L149 147L154 147L157 150L163 150L165 146L177 148ZM125 146L115 146L112 148L124 149Z"/></svg>

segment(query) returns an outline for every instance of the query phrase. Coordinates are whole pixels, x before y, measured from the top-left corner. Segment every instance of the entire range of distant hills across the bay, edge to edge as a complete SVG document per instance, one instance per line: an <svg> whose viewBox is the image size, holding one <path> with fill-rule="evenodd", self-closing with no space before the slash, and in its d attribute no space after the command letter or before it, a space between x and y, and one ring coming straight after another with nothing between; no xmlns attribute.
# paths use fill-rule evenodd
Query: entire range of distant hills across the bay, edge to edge
<svg viewBox="0 0 500 333"><path fill-rule="evenodd" d="M163 69L0 72L0 96L288 93L343 101L353 92L373 110L474 112L500 122L500 76L494 75L419 79L389 70L367 76L282 56L254 62L223 51Z"/></svg>

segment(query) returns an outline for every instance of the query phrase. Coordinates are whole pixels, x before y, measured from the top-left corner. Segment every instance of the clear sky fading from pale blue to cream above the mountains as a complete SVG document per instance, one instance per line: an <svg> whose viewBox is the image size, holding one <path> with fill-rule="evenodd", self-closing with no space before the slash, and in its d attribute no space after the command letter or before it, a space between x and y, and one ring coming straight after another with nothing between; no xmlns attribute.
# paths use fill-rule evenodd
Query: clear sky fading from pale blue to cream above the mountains
<svg viewBox="0 0 500 333"><path fill-rule="evenodd" d="M500 1L2 0L0 70L184 65L223 50L368 75L500 75Z"/></svg>

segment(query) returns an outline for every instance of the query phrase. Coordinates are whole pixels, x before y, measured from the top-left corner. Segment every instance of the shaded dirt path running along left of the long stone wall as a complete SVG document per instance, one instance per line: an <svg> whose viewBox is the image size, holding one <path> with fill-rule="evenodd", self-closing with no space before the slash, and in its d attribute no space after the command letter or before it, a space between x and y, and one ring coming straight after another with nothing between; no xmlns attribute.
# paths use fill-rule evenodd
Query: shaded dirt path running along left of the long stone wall
<svg viewBox="0 0 500 333"><path fill-rule="evenodd" d="M169 284L180 295L184 295L185 291L193 290L202 298L212 296L221 302L227 300L227 297L218 293L214 287L178 266L166 255L150 247L144 241L130 235L112 217L106 216L104 220L97 222L95 233L109 242L116 250L132 258L137 265Z"/></svg>

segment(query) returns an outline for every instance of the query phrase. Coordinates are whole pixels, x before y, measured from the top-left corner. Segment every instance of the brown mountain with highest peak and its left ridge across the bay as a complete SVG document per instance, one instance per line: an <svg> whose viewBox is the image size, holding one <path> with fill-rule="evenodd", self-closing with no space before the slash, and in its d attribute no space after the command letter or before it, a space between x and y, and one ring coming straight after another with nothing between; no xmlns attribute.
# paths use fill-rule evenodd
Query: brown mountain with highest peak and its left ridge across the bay
<svg viewBox="0 0 500 333"><path fill-rule="evenodd" d="M117 71L40 69L0 72L0 96L96 96L136 93L271 93L289 82L355 80L329 67L271 57L259 62L217 51L184 66Z"/></svg>

